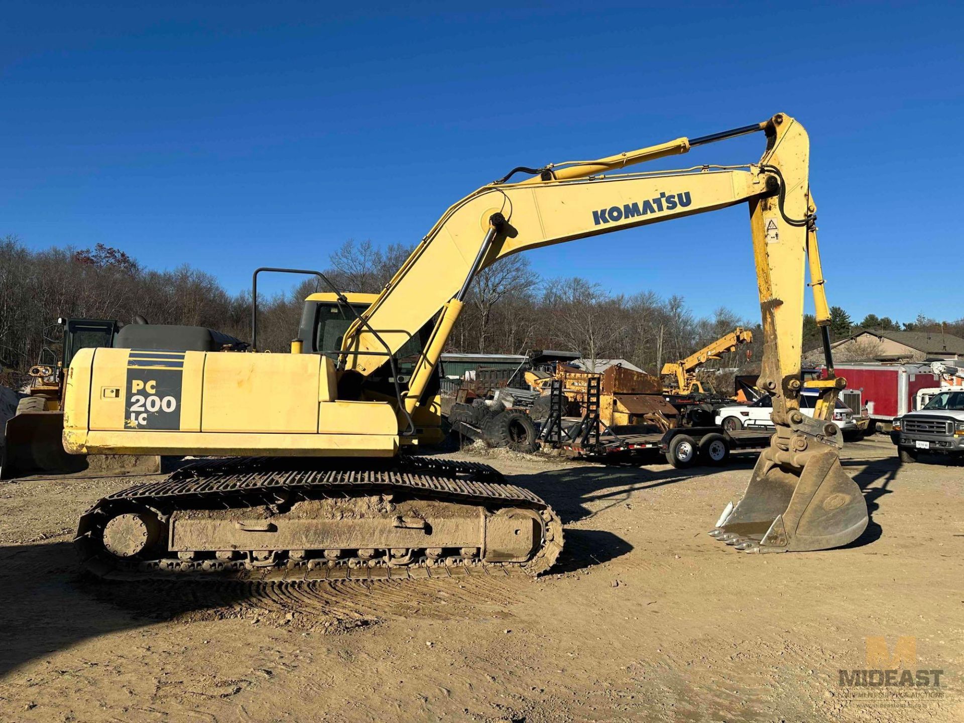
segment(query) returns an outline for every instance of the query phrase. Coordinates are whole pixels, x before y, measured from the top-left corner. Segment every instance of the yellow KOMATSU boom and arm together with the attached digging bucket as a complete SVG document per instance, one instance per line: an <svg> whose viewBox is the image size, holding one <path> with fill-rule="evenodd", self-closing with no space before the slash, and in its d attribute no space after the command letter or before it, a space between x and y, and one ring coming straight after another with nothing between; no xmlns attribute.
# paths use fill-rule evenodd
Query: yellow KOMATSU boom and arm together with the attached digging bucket
<svg viewBox="0 0 964 723"><path fill-rule="evenodd" d="M766 136L759 163L607 175L756 131ZM746 492L736 505L727 506L710 534L749 551L845 545L863 532L868 515L859 488L840 466L843 439L830 421L845 383L834 376L829 350L829 311L809 160L806 130L789 116L777 114L731 131L680 138L595 161L516 169L513 173L523 171L533 177L517 183L503 178L445 211L361 322L345 335L339 373L342 377L371 374L382 363L380 353L396 351L438 313L404 399L411 413L480 269L527 249L747 203L763 321L759 385L772 396L777 431L761 454ZM799 411L808 261L829 371L829 378L820 381L813 418Z"/></svg>

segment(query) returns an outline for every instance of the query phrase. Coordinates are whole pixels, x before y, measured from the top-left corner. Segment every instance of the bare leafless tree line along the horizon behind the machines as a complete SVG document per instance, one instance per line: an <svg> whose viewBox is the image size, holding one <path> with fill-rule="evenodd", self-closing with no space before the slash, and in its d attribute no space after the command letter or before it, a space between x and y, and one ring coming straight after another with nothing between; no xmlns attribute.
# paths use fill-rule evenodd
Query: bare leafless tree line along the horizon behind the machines
<svg viewBox="0 0 964 723"><path fill-rule="evenodd" d="M412 248L376 248L349 240L329 258L326 275L344 291L378 292ZM283 351L298 327L308 293L325 290L306 280L290 291L259 295L261 349ZM98 244L94 249L27 249L15 236L0 238L0 367L5 379L22 383L36 363L43 329L57 317L131 321L141 315L154 324L185 324L217 329L250 340L251 293L229 293L213 275L183 264L169 271L146 268L129 254ZM861 326L898 326L870 314ZM524 354L533 349L581 352L587 359L626 359L650 372L683 359L736 326L757 329L727 308L697 316L681 296L661 298L651 291L611 294L579 277L544 279L522 254L481 271L451 335L447 351ZM936 329L935 329L936 326ZM960 333L964 320L945 323ZM832 309L834 338L853 324L842 308ZM903 329L936 331L940 322L919 318ZM954 331L957 330L957 331ZM819 346L816 319L804 323L804 350ZM724 367L759 361L762 335L718 362ZM749 352L749 354L747 354Z"/></svg>

